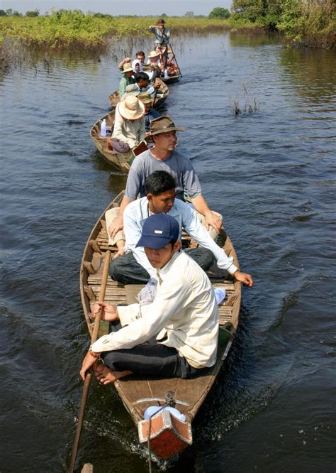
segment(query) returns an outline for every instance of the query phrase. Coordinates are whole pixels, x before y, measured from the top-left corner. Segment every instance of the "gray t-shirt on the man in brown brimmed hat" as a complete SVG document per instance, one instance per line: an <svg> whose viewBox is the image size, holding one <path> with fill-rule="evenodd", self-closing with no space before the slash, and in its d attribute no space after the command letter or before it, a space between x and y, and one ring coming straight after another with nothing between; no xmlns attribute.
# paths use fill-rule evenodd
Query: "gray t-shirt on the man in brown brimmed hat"
<svg viewBox="0 0 336 473"><path fill-rule="evenodd" d="M155 170L165 170L177 181L177 198L184 200L184 190L194 198L202 193L201 184L189 158L178 151L172 151L169 158L161 161L152 156L150 150L139 154L128 173L125 197L135 200L140 194L144 197L145 179Z"/></svg>

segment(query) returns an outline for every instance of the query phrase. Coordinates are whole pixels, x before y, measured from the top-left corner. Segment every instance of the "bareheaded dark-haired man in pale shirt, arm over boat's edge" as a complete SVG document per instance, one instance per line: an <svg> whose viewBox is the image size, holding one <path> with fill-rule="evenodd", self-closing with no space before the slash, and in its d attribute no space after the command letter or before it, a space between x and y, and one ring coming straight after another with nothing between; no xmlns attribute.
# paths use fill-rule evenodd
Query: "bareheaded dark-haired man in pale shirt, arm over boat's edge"
<svg viewBox="0 0 336 473"><path fill-rule="evenodd" d="M210 237L190 205L175 199L175 187L174 178L166 171L158 170L148 176L145 181L147 197L134 200L125 209L125 254L111 261L111 277L123 284L146 284L150 278L156 278L155 270L150 265L145 251L137 246L137 243L147 218L152 214L164 213L174 217L179 223L179 240L184 229L201 246L186 250L186 254L191 256L203 271L211 268L216 261L218 268L228 271L245 286L252 287L252 276L239 271L233 264L233 258L228 258L225 251ZM107 227L115 215L115 209L106 212ZM121 248L120 241L118 248Z"/></svg>

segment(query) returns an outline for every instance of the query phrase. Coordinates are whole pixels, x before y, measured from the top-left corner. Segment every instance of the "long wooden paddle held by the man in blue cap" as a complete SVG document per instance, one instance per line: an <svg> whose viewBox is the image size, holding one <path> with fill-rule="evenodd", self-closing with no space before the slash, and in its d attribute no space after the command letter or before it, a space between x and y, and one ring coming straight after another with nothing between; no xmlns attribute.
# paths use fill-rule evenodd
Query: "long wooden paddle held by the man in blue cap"
<svg viewBox="0 0 336 473"><path fill-rule="evenodd" d="M106 251L105 259L103 262L103 275L101 276L101 290L99 291L99 302L103 302L105 298L105 290L106 290L106 284L107 284L107 278L108 278L108 266L110 264L110 259L111 259L111 251L108 250ZM94 320L94 330L92 331L92 334L91 334L91 344L96 342L96 339L98 338L99 325L101 322L101 312L102 310L99 310ZM85 408L86 408L86 399L87 399L87 395L89 394L89 386L91 382L91 377L92 377L91 373L88 373L85 376L83 392L82 392L82 401L81 401L81 406L79 408L76 434L74 435L74 445L72 446L69 473L73 473L74 471L74 463L76 462L79 439L82 433L82 425L84 421L84 414L85 414Z"/></svg>

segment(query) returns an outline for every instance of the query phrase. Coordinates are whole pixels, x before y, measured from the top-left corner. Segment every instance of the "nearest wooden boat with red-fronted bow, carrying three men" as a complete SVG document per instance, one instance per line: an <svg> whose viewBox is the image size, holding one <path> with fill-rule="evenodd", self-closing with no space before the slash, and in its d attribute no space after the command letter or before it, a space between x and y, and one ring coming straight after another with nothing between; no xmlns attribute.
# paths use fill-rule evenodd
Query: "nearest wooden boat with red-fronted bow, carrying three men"
<svg viewBox="0 0 336 473"><path fill-rule="evenodd" d="M118 207L123 198L119 194L108 209ZM105 210L105 212L106 212ZM84 249L80 270L80 292L86 324L91 334L90 303L94 303L99 295L103 259L105 252L116 247L108 246L105 212L99 217ZM196 246L196 242L187 234L182 237L183 246ZM218 237L218 244L223 244L223 232ZM223 244L226 254L233 256L238 266L237 255L233 244L228 237ZM230 278L223 280L223 271L213 266L208 271L213 287L225 287L227 297L219 306L220 335L217 362L206 374L194 379L140 379L140 377L126 376L114 384L125 408L138 426L140 443L150 447L150 452L160 458L169 458L177 455L192 443L191 423L206 395L211 389L215 377L227 357L233 342L238 325L240 311L241 285ZM105 300L114 305L120 303L134 303L135 294L142 286L127 285L113 281L108 276ZM107 333L107 322L101 322L99 336ZM149 406L174 406L186 419L180 420L167 410L162 409L152 418L144 420L145 410Z"/></svg>

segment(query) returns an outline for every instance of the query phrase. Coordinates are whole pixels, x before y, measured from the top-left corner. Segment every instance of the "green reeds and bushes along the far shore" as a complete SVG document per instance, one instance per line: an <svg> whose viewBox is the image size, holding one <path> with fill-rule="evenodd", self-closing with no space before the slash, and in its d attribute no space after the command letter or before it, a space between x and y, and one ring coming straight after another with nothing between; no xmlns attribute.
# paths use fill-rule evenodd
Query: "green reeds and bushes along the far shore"
<svg viewBox="0 0 336 473"><path fill-rule="evenodd" d="M291 4L274 23L276 31L294 42L306 42L310 46L335 45L335 13L322 4L304 4L285 0ZM329 1L329 0L328 0ZM328 4L329 5L329 4ZM269 26L262 17L251 21L241 13L228 19L194 17L169 17L167 24L172 36L192 33L232 31L265 33ZM152 36L148 26L157 21L155 17L123 16L114 18L101 13L82 13L80 10L53 11L49 16L0 16L0 51L4 56L11 45L38 48L40 50L86 50L101 53L112 39L124 36Z"/></svg>

